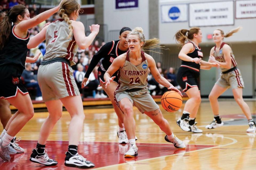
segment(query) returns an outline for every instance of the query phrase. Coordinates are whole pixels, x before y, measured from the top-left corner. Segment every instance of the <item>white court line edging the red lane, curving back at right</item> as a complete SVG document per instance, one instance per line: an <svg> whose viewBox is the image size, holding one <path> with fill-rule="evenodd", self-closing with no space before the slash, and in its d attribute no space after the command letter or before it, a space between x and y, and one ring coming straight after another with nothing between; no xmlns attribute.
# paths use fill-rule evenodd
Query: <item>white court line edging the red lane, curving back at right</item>
<svg viewBox="0 0 256 170"><path fill-rule="evenodd" d="M237 140L235 140L234 138L229 138L229 137L223 137L223 138L230 139L230 140L232 140L233 142L228 143L228 144L226 144L226 145L219 145L219 146L213 146L213 147L209 147L209 148L198 149L198 150L195 150L195 151L188 151L188 152L186 152L186 153L198 152L198 151L203 151L203 150L207 150L207 149L212 149L212 148L217 148L217 147L222 147L222 146L233 145L233 144L237 143ZM185 153L185 154L186 154L186 153ZM180 154L181 154L181 153L173 154L173 155L166 155L166 156L175 156L175 155L180 155ZM126 164L128 165L128 164L130 164L130 163L132 163L132 162L135 162L135 164L136 164L136 163L143 162L143 161L148 161L148 160L153 160L153 159L159 159L159 158L165 158L166 156L159 156L159 157L155 157L155 158L149 158L149 159L131 161L131 162L129 162L129 163L121 163L121 164L109 165L109 166L100 167L100 168L95 168L95 169L105 169L105 168L116 167L116 166L119 166L119 165L126 165Z"/></svg>

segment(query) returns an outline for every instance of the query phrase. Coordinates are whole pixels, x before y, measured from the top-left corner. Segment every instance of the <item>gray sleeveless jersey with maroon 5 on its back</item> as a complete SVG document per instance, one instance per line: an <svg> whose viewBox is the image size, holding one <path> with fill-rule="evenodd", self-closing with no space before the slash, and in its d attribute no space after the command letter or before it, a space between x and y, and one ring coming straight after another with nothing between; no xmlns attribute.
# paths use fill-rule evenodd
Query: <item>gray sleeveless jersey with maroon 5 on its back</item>
<svg viewBox="0 0 256 170"><path fill-rule="evenodd" d="M74 56L77 53L78 45L74 35L69 36L69 24L64 19L58 19L51 23L46 31L46 53L43 60L51 60L61 57L70 61L70 65L75 65Z"/></svg>

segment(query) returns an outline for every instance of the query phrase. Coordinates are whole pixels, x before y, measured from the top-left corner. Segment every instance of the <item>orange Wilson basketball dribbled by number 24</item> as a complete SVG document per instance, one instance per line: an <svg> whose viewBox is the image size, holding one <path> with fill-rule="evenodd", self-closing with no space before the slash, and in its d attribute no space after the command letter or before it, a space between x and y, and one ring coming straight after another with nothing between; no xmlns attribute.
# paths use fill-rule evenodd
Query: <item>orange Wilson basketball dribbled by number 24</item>
<svg viewBox="0 0 256 170"><path fill-rule="evenodd" d="M168 112L175 112L182 106L182 97L176 91L167 91L161 99L162 107Z"/></svg>

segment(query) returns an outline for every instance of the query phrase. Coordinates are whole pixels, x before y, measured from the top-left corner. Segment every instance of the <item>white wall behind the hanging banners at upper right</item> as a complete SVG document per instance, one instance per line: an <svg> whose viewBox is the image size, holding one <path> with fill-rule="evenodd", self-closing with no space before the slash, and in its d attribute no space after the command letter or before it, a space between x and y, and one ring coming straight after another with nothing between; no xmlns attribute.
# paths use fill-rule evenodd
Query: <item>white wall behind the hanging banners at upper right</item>
<svg viewBox="0 0 256 170"><path fill-rule="evenodd" d="M160 5L163 4L184 4L184 3L192 3L192 2L216 2L223 0L159 0L159 39L162 44L175 44L175 40L173 36L179 29L189 29L189 22L176 22L176 23L161 23L161 9ZM225 1L225 0L224 0ZM234 1L235 4L235 1ZM188 11L187 11L188 12ZM189 15L188 15L189 16ZM234 14L235 18L235 14ZM189 18L188 18L189 20ZM214 29L220 28L225 33L230 29L236 28L238 26L242 26L243 29L235 34L235 36L229 37L227 39L228 42L248 42L248 41L256 41L256 18L251 19L235 19L235 25L229 26L215 26L215 27L201 27L201 31L203 33L202 43L211 43L212 40L207 40L206 35L211 34Z"/></svg>

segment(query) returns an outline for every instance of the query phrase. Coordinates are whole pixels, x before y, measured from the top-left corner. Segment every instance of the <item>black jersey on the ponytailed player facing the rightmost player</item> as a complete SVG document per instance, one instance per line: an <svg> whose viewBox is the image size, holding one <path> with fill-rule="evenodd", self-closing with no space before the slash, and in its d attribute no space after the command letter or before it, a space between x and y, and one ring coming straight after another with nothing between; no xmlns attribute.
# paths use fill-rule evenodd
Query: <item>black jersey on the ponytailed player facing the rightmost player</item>
<svg viewBox="0 0 256 170"><path fill-rule="evenodd" d="M195 44L193 42L188 42L188 43L192 43L194 46L194 50L191 53L188 53L187 55L191 58L200 58L200 60L202 60L203 58L203 53L201 52L201 48L198 46L195 46ZM191 70L197 71L199 72L200 70L200 65L201 62L199 64L195 63L195 62L190 62L190 61L183 61L181 62L181 67L187 67Z"/></svg>

